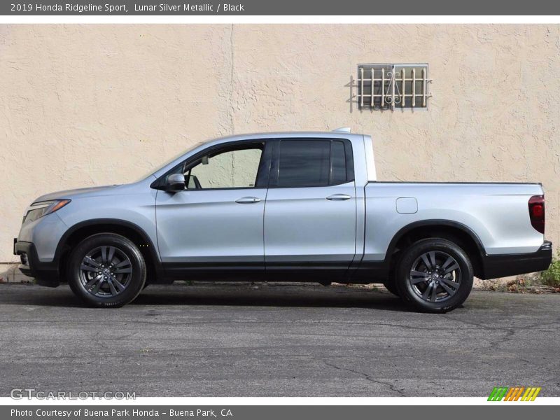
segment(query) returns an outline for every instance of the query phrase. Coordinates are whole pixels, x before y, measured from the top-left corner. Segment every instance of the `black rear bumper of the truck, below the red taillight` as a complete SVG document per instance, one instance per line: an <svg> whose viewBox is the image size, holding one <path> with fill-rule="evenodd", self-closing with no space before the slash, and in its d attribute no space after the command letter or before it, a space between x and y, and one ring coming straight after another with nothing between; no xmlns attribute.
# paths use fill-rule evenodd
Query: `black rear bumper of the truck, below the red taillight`
<svg viewBox="0 0 560 420"><path fill-rule="evenodd" d="M548 269L552 262L552 242L545 241L534 253L484 255L481 279L516 276Z"/></svg>

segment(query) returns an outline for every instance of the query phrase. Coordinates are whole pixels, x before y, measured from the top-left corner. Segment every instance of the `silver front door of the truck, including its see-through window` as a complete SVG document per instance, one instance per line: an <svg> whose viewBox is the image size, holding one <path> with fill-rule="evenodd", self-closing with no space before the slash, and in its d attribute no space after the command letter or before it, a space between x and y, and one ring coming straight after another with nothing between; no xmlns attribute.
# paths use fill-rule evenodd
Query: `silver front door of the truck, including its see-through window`
<svg viewBox="0 0 560 420"><path fill-rule="evenodd" d="M213 148L179 168L186 190L158 191L158 247L168 274L224 278L264 269L264 150L264 142Z"/></svg>

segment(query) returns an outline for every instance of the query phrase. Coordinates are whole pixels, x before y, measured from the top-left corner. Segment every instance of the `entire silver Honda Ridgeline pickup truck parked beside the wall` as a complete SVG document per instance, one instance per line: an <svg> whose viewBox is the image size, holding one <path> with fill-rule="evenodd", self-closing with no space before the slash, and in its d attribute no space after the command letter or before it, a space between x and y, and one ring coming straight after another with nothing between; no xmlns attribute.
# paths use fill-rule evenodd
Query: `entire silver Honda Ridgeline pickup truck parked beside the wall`
<svg viewBox="0 0 560 420"><path fill-rule="evenodd" d="M174 279L384 283L416 309L461 305L472 278L547 269L538 183L376 179L371 137L225 137L135 183L38 197L14 252L44 286L98 307Z"/></svg>

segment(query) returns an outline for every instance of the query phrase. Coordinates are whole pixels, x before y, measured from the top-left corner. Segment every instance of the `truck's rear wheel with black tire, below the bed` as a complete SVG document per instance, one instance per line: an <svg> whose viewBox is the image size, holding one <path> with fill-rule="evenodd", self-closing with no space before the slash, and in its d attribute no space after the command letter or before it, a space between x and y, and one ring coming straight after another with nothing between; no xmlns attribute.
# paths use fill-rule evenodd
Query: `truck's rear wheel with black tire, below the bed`
<svg viewBox="0 0 560 420"><path fill-rule="evenodd" d="M472 290L473 269L468 254L447 239L422 239L402 253L395 276L400 297L416 309L451 311Z"/></svg>

